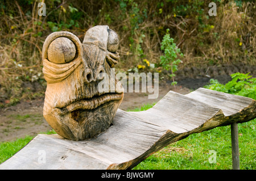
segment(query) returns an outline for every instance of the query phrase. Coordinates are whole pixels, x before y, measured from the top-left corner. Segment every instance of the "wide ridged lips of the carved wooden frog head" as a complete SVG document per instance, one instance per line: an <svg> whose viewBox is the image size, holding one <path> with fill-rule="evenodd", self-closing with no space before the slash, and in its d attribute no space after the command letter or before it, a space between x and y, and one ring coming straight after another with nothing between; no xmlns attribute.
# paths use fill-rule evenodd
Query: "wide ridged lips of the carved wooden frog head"
<svg viewBox="0 0 256 181"><path fill-rule="evenodd" d="M123 93L106 93L102 95L94 95L90 99L81 99L69 104L63 108L55 108L54 110L60 115L66 115L67 113L74 112L77 110L94 110L102 104L113 102L115 100L121 100Z"/></svg>

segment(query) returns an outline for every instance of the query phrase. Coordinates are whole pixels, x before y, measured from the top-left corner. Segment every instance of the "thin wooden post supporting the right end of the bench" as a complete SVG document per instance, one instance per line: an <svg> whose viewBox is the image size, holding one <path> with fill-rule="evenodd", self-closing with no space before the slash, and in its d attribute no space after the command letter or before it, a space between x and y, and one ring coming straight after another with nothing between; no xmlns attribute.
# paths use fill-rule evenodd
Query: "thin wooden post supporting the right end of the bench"
<svg viewBox="0 0 256 181"><path fill-rule="evenodd" d="M238 145L238 124L231 124L231 144L232 144L232 166L233 170L240 170L239 165L239 145Z"/></svg>

